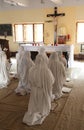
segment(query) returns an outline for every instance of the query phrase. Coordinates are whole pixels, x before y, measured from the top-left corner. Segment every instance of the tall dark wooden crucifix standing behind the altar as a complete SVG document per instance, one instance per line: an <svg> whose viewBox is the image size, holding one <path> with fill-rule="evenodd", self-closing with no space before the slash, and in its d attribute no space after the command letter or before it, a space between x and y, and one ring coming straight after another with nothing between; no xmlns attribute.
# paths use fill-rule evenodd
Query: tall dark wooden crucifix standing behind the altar
<svg viewBox="0 0 84 130"><path fill-rule="evenodd" d="M58 42L57 38L57 19L56 17L65 16L65 13L57 13L57 7L54 8L54 14L47 14L47 17L54 18L54 45Z"/></svg>

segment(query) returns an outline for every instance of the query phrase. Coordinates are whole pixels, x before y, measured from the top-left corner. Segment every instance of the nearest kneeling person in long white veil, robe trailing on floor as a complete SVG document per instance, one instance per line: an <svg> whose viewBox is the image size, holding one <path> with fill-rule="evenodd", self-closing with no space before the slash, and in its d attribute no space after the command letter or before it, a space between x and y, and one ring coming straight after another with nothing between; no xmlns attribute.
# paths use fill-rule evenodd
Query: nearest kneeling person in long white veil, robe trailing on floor
<svg viewBox="0 0 84 130"><path fill-rule="evenodd" d="M23 123L32 126L42 124L51 110L54 77L40 54L36 56L35 66L29 70L29 83L31 93Z"/></svg>

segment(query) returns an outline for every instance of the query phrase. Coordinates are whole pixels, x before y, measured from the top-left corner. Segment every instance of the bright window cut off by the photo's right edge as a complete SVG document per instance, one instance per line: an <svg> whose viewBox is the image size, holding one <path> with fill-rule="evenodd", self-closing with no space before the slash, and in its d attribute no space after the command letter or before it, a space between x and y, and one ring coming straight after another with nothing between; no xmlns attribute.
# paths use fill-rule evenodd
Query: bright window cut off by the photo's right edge
<svg viewBox="0 0 84 130"><path fill-rule="evenodd" d="M77 23L77 43L84 43L84 22Z"/></svg>

